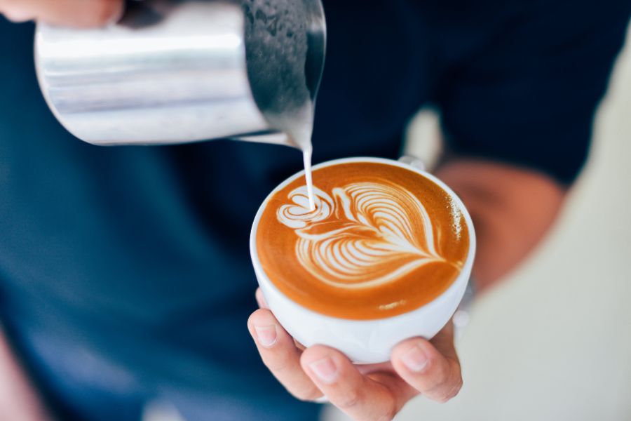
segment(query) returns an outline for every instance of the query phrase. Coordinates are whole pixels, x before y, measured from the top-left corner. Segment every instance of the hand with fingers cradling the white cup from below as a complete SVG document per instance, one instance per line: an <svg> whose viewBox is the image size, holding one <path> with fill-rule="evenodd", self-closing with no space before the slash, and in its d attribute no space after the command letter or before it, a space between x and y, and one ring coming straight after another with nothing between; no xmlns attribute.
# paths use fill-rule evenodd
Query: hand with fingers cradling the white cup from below
<svg viewBox="0 0 631 421"><path fill-rule="evenodd" d="M271 373L303 401L330 401L354 420L391 420L414 396L446 402L462 386L452 323L431 340L410 338L393 348L387 363L355 365L337 349L304 349L280 326L257 290L261 309L250 330Z"/></svg>

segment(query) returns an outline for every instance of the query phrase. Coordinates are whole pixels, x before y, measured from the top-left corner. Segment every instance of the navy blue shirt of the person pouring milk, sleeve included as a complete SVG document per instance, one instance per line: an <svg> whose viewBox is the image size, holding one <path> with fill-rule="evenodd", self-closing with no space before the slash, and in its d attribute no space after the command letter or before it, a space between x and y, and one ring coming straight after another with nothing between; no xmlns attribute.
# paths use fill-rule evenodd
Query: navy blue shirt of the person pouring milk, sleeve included
<svg viewBox="0 0 631 421"><path fill-rule="evenodd" d="M452 153L569 184L629 8L326 1L314 162L395 159L407 121L432 104ZM250 225L266 194L301 169L299 152L76 140L39 92L32 34L0 18L0 308L15 347L28 360L31 336L80 344L149 391L168 384L314 414L266 372L245 328L256 308Z"/></svg>

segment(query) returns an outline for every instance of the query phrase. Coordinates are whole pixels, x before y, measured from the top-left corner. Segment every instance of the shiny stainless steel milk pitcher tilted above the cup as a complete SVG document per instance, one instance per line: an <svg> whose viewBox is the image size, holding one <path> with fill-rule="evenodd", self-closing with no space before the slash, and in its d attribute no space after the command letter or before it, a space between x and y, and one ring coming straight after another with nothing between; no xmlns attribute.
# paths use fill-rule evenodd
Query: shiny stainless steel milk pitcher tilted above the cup
<svg viewBox="0 0 631 421"><path fill-rule="evenodd" d="M38 25L36 70L50 109L86 142L289 144L266 114L315 100L325 32L320 0L130 1L109 27Z"/></svg>

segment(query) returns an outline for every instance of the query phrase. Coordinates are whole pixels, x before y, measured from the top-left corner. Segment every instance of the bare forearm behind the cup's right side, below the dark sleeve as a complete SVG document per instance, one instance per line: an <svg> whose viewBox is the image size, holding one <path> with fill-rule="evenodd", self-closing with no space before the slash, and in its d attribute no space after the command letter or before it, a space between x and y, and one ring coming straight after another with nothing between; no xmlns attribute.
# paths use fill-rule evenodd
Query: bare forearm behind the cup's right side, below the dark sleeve
<svg viewBox="0 0 631 421"><path fill-rule="evenodd" d="M515 268L543 239L562 207L565 189L515 166L453 159L437 176L467 206L477 237L473 276L484 290Z"/></svg>

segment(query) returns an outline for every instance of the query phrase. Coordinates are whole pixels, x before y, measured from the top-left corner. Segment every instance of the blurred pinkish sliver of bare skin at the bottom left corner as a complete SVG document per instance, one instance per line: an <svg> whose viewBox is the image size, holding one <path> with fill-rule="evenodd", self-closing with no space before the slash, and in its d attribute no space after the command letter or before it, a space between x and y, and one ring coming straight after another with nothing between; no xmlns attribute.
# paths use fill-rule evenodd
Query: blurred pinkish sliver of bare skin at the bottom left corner
<svg viewBox="0 0 631 421"><path fill-rule="evenodd" d="M0 419L50 420L0 325Z"/></svg>

